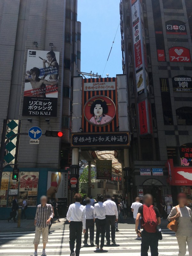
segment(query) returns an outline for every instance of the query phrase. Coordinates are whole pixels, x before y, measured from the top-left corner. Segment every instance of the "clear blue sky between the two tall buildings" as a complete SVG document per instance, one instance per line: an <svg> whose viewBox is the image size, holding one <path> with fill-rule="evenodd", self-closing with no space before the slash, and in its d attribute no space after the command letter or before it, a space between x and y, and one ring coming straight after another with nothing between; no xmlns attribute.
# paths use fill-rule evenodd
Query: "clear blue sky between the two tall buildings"
<svg viewBox="0 0 192 256"><path fill-rule="evenodd" d="M102 75L120 21L119 0L78 0L81 71ZM102 77L122 74L120 25Z"/></svg>

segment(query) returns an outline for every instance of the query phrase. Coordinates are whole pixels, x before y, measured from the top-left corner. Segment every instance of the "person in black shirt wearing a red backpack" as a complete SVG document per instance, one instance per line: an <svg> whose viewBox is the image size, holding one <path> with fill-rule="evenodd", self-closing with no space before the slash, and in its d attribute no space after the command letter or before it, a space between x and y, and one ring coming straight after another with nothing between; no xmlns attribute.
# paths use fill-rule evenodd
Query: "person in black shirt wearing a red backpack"
<svg viewBox="0 0 192 256"><path fill-rule="evenodd" d="M140 217L142 220L142 232L138 229ZM153 197L150 194L144 195L143 205L141 205L138 209L135 222L135 231L139 236L142 237L141 256L148 256L149 246L151 250L151 256L158 256L159 232L157 232L157 228L160 224L160 213L158 209L153 206Z"/></svg>

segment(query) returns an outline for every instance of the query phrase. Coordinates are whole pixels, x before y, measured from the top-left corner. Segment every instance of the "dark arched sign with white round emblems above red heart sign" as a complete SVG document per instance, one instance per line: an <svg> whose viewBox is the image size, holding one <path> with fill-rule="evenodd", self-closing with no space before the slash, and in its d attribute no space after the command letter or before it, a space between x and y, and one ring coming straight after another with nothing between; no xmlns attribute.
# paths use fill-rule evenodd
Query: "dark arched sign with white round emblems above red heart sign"
<svg viewBox="0 0 192 256"><path fill-rule="evenodd" d="M180 20L168 20L165 22L166 33L171 35L187 35L186 24Z"/></svg>

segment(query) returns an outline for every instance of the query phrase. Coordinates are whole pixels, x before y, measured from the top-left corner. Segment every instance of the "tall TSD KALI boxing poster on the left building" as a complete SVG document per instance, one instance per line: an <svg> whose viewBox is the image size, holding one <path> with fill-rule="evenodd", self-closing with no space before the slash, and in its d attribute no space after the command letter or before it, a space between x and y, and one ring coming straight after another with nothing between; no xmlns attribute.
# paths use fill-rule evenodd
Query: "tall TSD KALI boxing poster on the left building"
<svg viewBox="0 0 192 256"><path fill-rule="evenodd" d="M28 50L23 116L57 116L59 54Z"/></svg>

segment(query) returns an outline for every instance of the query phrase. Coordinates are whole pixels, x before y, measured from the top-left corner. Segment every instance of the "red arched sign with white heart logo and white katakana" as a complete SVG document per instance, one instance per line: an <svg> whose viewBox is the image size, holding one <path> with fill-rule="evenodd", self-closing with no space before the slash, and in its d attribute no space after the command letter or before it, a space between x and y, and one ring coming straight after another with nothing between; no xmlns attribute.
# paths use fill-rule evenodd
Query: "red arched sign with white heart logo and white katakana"
<svg viewBox="0 0 192 256"><path fill-rule="evenodd" d="M172 47L169 49L169 60L171 62L191 62L190 51L185 47Z"/></svg>

